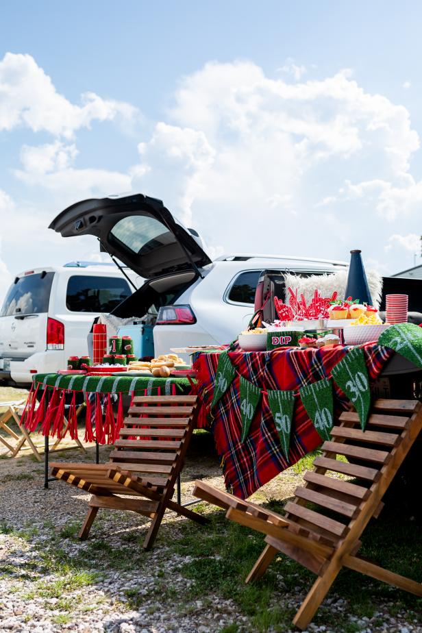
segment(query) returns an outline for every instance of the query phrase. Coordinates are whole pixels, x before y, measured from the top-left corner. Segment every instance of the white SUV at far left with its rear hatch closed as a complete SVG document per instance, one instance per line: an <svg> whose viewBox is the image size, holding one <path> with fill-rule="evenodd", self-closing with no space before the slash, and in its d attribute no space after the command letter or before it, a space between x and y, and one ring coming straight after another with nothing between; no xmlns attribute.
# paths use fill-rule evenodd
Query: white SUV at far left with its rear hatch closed
<svg viewBox="0 0 422 633"><path fill-rule="evenodd" d="M20 273L0 312L0 378L29 384L34 373L88 354L92 318L133 291L114 264L73 262Z"/></svg>

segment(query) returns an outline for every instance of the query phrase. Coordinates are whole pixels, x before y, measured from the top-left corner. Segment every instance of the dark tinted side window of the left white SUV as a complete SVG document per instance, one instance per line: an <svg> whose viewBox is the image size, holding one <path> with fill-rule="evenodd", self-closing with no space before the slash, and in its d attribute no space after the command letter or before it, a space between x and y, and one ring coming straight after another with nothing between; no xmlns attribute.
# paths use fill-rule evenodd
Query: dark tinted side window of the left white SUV
<svg viewBox="0 0 422 633"><path fill-rule="evenodd" d="M66 291L66 308L71 312L111 312L131 294L129 284L119 277L73 275Z"/></svg>

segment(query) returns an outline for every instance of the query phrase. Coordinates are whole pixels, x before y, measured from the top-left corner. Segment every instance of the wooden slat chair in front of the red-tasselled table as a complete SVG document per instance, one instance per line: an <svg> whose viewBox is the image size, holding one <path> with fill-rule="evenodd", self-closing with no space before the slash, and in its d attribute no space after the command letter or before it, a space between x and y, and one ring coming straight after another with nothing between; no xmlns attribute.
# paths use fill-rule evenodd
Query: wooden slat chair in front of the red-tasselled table
<svg viewBox="0 0 422 633"><path fill-rule="evenodd" d="M108 464L51 464L55 477L92 493L79 538L88 537L99 508L132 510L150 517L145 549L153 546L166 508L206 523L197 512L172 501L196 413L197 396L136 397Z"/></svg>

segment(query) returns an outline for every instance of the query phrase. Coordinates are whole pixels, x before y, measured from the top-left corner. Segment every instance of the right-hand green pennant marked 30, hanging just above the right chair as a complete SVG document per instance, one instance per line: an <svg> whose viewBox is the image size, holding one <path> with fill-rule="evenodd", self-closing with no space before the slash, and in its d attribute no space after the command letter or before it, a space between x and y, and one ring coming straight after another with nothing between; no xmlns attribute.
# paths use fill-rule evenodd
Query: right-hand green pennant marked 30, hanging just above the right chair
<svg viewBox="0 0 422 633"><path fill-rule="evenodd" d="M353 403L360 419L362 430L367 423L371 392L365 357L360 347L353 347L332 369L333 378L340 389Z"/></svg>

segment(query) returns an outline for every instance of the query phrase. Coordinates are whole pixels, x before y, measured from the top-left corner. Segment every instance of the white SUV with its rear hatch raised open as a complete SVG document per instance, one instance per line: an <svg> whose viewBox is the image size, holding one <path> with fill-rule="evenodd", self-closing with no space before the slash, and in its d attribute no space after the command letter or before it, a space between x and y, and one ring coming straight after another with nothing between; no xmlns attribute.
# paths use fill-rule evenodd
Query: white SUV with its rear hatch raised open
<svg viewBox="0 0 422 633"><path fill-rule="evenodd" d="M50 228L63 237L97 236L101 249L145 278L112 310L122 318L149 315L154 353L171 347L229 343L253 315L261 271L335 272L345 262L236 255L212 262L193 229L176 221L162 201L134 194L84 200L60 213Z"/></svg>

